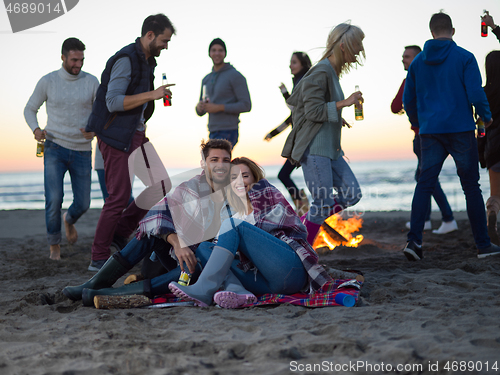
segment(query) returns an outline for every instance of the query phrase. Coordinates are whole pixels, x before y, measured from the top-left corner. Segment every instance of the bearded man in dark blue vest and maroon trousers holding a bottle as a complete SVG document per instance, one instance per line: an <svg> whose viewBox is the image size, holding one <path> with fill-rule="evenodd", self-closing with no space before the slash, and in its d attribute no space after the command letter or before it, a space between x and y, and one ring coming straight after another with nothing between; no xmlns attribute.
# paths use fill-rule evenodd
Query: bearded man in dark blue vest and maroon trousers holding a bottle
<svg viewBox="0 0 500 375"><path fill-rule="evenodd" d="M89 271L102 267L110 256L113 242L123 247L148 212L149 207L137 204L137 200L128 205L129 157L148 142L145 123L153 114L154 101L172 95L170 85L154 89L153 73L155 57L168 48L173 34L175 28L164 14L149 16L142 25L141 37L111 57L102 73L86 131L93 131L98 137L109 196L97 224ZM141 149L146 154L145 148ZM169 189L170 185L163 184L164 193ZM151 206L161 198L159 196Z"/></svg>

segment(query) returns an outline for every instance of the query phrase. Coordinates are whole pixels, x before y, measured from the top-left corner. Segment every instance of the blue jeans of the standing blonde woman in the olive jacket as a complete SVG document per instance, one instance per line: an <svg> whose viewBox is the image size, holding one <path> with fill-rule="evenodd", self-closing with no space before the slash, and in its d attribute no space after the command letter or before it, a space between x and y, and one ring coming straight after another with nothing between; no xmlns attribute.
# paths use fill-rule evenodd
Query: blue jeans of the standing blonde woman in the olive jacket
<svg viewBox="0 0 500 375"><path fill-rule="evenodd" d="M313 199L307 220L322 224L335 212L354 206L361 199L358 180L343 157L332 160L306 150L300 163Z"/></svg>

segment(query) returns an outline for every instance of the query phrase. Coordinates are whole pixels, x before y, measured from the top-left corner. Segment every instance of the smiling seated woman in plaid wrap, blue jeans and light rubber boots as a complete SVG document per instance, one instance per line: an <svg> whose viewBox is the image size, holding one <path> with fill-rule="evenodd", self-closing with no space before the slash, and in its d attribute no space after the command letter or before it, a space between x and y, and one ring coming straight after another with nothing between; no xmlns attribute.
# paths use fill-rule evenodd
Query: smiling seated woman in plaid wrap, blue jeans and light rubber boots
<svg viewBox="0 0 500 375"><path fill-rule="evenodd" d="M247 158L232 164L228 200L243 198L240 218L222 223L217 244L200 244L196 255L205 265L196 284L172 282L170 290L198 306L214 300L237 308L255 301L254 294L318 290L331 281L307 242L305 226L281 192L262 178L262 169Z"/></svg>

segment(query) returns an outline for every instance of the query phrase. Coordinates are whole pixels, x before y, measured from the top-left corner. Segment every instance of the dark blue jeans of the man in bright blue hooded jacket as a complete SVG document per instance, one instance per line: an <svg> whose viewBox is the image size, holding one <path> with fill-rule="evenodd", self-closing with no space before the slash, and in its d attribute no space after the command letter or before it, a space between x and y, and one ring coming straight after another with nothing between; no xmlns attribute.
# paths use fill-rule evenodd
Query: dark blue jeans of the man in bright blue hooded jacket
<svg viewBox="0 0 500 375"><path fill-rule="evenodd" d="M486 227L483 195L479 187L479 156L474 131L449 134L421 134L422 164L411 205L411 229L408 241L422 243L425 214L432 192L448 155L457 166L457 174L465 193L467 215L478 249L490 245Z"/></svg>

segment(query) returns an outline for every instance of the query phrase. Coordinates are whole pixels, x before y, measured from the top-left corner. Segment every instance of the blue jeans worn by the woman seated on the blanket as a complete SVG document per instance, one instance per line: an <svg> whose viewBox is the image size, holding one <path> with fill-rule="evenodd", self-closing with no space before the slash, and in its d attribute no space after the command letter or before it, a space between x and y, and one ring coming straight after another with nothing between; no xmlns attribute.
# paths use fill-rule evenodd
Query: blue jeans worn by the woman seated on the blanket
<svg viewBox="0 0 500 375"><path fill-rule="evenodd" d="M249 292L254 294L299 292L308 281L308 274L297 253L273 235L238 219L226 219L220 229L217 246L236 254L239 250L257 267L257 273L243 272L235 259L231 271ZM196 256L204 266L215 245L203 242Z"/></svg>

